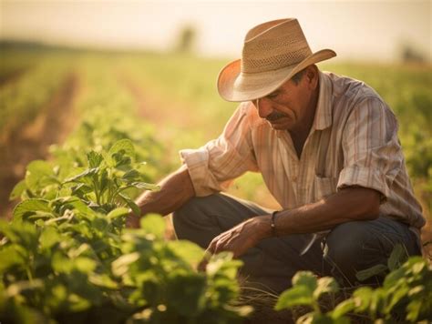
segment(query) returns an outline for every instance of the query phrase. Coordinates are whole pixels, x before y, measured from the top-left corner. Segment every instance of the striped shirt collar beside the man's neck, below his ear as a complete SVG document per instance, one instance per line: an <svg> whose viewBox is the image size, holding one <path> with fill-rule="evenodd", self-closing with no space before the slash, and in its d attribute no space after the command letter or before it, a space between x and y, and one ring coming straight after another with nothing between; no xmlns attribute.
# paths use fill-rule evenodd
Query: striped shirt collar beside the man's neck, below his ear
<svg viewBox="0 0 432 324"><path fill-rule="evenodd" d="M320 93L314 117L314 129L322 130L332 126L332 81L330 77L319 72Z"/></svg>

